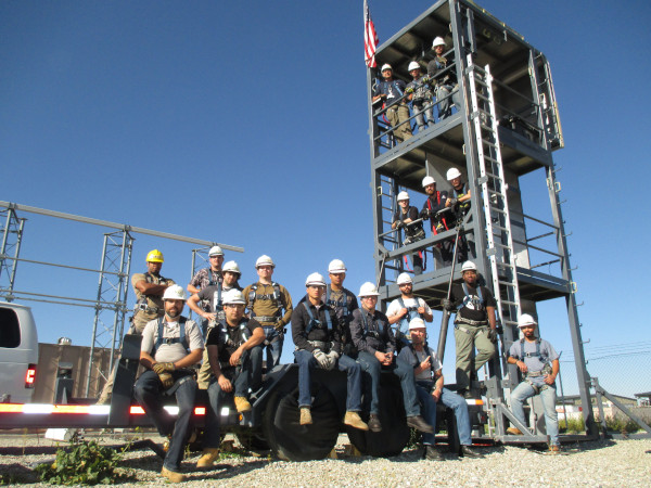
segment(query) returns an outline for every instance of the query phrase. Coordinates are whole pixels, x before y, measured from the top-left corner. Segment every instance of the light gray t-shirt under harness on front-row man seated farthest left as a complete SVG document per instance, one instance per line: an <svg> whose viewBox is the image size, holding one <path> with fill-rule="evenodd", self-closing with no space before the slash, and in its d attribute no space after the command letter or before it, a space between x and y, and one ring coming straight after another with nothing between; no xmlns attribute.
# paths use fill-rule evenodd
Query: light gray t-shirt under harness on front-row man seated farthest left
<svg viewBox="0 0 651 488"><path fill-rule="evenodd" d="M201 330L193 320L186 321L186 338L190 350L203 349L204 341L201 335ZM180 336L181 329L178 322L167 322L163 320L163 337L175 338ZM158 338L158 320L149 322L142 331L142 344L140 350L151 352ZM181 343L161 344L154 354L156 362L176 362L188 356L188 351Z"/></svg>

